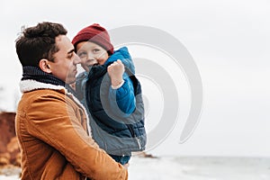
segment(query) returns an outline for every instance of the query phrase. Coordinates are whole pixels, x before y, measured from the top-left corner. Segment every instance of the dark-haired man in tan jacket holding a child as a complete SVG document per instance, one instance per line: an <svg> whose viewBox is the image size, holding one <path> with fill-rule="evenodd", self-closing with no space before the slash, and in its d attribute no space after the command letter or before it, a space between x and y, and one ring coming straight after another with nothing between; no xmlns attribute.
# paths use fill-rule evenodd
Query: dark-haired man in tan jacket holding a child
<svg viewBox="0 0 270 180"><path fill-rule="evenodd" d="M23 92L16 115L22 179L127 179L91 138L85 108L69 86L80 58L58 23L23 31L16 51L23 66Z"/></svg>

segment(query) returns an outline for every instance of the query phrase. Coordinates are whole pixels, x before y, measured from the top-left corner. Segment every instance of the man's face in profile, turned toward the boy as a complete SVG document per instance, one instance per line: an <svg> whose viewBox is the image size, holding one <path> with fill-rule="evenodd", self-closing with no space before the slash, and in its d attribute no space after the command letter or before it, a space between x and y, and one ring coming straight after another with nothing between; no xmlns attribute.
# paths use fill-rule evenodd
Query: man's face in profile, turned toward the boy
<svg viewBox="0 0 270 180"><path fill-rule="evenodd" d="M72 84L76 81L76 65L80 63L80 58L66 35L56 37L56 45L59 50L53 55L54 62L49 61L51 74L68 85Z"/></svg>

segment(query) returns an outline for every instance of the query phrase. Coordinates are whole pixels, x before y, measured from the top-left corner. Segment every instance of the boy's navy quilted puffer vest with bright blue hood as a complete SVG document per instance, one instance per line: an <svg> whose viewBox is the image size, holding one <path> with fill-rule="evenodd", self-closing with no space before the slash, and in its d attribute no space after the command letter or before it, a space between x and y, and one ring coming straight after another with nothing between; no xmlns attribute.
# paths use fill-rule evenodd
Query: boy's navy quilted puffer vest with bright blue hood
<svg viewBox="0 0 270 180"><path fill-rule="evenodd" d="M117 59L121 59L125 66L124 76L130 77L134 87L136 109L128 116L123 116L121 110L112 107L108 98L111 79L107 67ZM133 62L128 49L124 47L115 51L104 65L92 67L86 81L85 100L91 119L94 120L90 121L92 135L108 154L130 155L131 151L141 151L146 146L144 104L141 86L134 74Z"/></svg>

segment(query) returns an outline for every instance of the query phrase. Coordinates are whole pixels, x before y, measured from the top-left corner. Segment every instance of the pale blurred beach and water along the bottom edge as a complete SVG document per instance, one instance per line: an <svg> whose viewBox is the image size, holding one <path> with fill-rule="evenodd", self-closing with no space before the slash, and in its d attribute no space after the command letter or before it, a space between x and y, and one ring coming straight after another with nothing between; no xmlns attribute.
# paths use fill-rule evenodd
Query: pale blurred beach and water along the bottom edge
<svg viewBox="0 0 270 180"><path fill-rule="evenodd" d="M3 169L2 169L3 171ZM2 172L0 171L0 172ZM0 180L18 180L0 175ZM2 172L3 174L3 172ZM130 180L269 180L267 157L132 157Z"/></svg>

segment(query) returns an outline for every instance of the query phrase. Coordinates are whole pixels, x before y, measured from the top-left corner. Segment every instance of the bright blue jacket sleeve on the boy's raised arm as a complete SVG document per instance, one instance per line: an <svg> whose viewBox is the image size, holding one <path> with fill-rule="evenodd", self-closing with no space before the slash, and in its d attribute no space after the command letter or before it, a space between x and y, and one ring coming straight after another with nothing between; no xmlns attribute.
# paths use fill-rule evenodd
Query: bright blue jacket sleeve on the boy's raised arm
<svg viewBox="0 0 270 180"><path fill-rule="evenodd" d="M124 76L124 84L118 89L109 90L110 105L112 112L121 114L122 117L127 117L134 112L136 108L136 100L134 95L134 87L129 76Z"/></svg>

